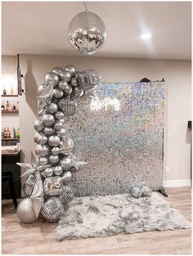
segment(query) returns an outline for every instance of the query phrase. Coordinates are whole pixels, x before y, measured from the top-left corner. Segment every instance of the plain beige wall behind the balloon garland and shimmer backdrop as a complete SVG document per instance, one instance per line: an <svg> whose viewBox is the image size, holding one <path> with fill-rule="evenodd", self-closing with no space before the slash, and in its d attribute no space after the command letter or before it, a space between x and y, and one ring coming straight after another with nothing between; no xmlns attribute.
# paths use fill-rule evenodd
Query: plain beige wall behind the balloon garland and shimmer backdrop
<svg viewBox="0 0 193 256"><path fill-rule="evenodd" d="M191 120L191 61L161 61L123 58L96 58L70 56L20 56L25 75L25 95L20 97L20 144L23 159L30 162L34 150L33 121L37 115L37 88L44 75L56 65L75 65L77 70L94 69L103 82L132 82L146 77L165 79L165 180L190 179L191 133L187 121ZM2 73L16 72L16 58L2 56ZM165 168L164 168L165 169Z"/></svg>

